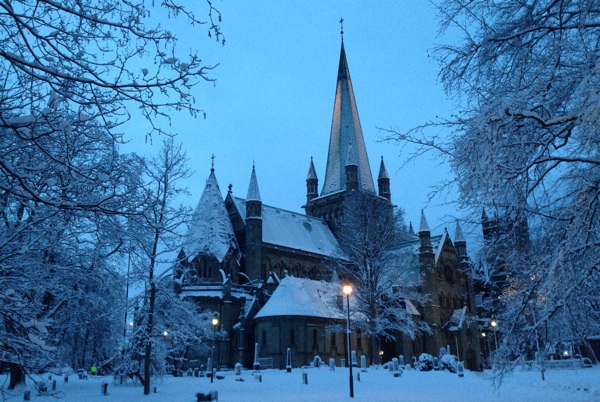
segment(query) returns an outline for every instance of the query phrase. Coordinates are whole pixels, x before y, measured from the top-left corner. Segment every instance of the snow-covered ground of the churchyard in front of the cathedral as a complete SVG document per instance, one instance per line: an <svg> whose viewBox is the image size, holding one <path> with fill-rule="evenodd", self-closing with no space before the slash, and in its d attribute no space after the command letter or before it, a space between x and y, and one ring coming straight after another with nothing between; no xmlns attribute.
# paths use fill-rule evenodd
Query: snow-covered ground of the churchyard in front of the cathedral
<svg viewBox="0 0 600 402"><path fill-rule="evenodd" d="M518 370L506 377L500 388L494 386L494 374L465 372L460 378L449 372L405 371L401 377L393 377L382 369L360 372L360 382L354 370L355 401L600 401L600 367L581 370L549 370L542 382L537 371ZM350 401L348 369L307 369L308 384L303 384L302 370L292 373L279 370L263 370L262 381L256 380L250 371L242 372L244 381L236 381L233 372L225 372L223 379L165 376L156 381L156 393L143 395L138 384L117 385L112 377L78 379L77 375L64 382L57 380L53 396L41 396L32 388L32 401L61 402L134 402L175 401L195 402L199 391L216 390L219 401L269 402L269 401ZM47 380L47 375L42 377ZM23 400L23 389L7 393L6 376L0 376L4 398ZM102 383L108 383L108 395L102 395ZM12 397L11 397L12 395ZM56 399L56 397L60 399Z"/></svg>

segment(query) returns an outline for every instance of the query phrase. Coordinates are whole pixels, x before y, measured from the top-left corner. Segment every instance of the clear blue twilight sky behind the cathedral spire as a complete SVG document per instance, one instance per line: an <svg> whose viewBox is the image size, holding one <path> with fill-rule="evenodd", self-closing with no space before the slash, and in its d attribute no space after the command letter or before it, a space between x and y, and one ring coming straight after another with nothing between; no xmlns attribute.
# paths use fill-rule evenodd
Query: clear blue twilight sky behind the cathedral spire
<svg viewBox="0 0 600 402"><path fill-rule="evenodd" d="M377 130L407 130L453 110L437 81L438 65L428 56L435 44L449 40L438 36L436 11L428 1L214 3L222 12L225 46L209 39L204 27L176 30L182 49L197 50L206 63L219 64L211 74L216 83L196 87L197 106L206 119L173 115L171 130L179 134L194 171L186 183L191 197L184 202L198 202L214 154L223 195L232 184L234 194L246 196L254 163L263 203L303 212L311 156L319 191L325 177L343 17L374 180L383 155L392 201L406 210L407 222L418 229L425 208L434 234L448 226L454 236L454 223L443 216L462 216L447 204L450 199L427 202L430 186L448 174L447 167L422 160L401 168L406 155L379 142L383 134ZM150 152L157 149L155 138Z"/></svg>

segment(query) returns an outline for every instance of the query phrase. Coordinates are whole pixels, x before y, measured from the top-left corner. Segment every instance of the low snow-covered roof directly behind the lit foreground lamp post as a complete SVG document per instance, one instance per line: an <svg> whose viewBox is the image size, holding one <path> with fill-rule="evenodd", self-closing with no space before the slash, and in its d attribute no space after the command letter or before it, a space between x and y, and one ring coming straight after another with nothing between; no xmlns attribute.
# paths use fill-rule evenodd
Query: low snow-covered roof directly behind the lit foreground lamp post
<svg viewBox="0 0 600 402"><path fill-rule="evenodd" d="M339 286L331 282L286 276L256 318L305 316L343 319L344 310L337 306Z"/></svg>

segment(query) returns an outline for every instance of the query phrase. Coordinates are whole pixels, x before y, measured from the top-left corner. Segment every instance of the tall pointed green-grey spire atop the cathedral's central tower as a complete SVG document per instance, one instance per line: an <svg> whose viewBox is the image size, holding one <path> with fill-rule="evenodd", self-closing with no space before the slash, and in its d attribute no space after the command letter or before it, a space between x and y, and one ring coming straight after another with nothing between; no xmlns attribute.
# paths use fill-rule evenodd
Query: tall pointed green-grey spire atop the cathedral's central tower
<svg viewBox="0 0 600 402"><path fill-rule="evenodd" d="M346 60L344 43L340 51L337 87L333 105L331 135L329 137L329 154L327 170L321 196L344 190L346 183L345 167L347 165L348 147L356 150L358 162L358 189L375 193L373 175L369 166L369 158L365 148L358 109L354 99L350 70Z"/></svg>

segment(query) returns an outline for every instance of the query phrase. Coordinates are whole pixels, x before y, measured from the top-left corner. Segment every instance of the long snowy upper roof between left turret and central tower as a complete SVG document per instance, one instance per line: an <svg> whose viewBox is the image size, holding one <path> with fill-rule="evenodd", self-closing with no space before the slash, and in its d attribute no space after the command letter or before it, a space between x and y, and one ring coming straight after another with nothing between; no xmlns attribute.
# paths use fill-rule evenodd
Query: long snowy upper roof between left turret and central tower
<svg viewBox="0 0 600 402"><path fill-rule="evenodd" d="M242 219L246 200L232 197ZM327 223L319 218L262 204L263 242L332 258L346 258Z"/></svg>

